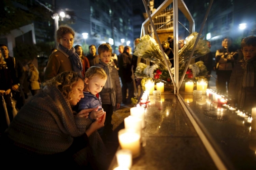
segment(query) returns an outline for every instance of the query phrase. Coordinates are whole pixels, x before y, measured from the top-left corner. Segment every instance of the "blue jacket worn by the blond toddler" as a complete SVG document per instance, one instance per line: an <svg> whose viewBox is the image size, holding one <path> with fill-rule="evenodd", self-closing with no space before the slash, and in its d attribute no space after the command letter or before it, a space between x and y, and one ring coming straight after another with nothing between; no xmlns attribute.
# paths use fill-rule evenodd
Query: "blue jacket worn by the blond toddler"
<svg viewBox="0 0 256 170"><path fill-rule="evenodd" d="M99 95L99 99L90 92L83 92L83 95L84 97L77 103L78 112L83 109L97 108L98 106L101 106L101 95Z"/></svg>

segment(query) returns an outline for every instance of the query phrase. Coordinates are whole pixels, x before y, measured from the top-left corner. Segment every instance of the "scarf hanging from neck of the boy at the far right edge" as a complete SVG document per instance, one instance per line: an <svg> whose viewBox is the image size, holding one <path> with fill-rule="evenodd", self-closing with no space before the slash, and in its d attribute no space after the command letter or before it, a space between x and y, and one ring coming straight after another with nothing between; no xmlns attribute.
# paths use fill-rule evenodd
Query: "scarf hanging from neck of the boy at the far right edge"
<svg viewBox="0 0 256 170"><path fill-rule="evenodd" d="M238 106L243 107L246 96L246 88L254 87L254 67L252 61L254 61L256 57L252 59L242 59L242 65L244 65L244 74L240 80L240 89L238 92Z"/></svg>

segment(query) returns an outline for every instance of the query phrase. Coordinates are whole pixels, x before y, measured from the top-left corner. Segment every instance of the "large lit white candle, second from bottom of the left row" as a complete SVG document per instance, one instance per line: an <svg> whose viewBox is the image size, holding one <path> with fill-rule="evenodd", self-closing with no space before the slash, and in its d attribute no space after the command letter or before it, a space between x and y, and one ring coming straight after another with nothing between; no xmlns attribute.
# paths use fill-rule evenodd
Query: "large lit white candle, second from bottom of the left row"
<svg viewBox="0 0 256 170"><path fill-rule="evenodd" d="M128 149L132 152L132 157L136 158L140 153L139 134L131 129L121 129L118 132L119 144L122 149Z"/></svg>

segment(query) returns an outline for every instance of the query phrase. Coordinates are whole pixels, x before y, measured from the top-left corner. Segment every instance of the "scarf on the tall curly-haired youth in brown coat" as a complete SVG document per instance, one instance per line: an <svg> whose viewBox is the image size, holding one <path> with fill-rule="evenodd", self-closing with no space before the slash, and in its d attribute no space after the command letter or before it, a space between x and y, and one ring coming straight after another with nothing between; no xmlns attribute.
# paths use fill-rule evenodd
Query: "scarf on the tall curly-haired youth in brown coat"
<svg viewBox="0 0 256 170"><path fill-rule="evenodd" d="M73 71L82 76L82 62L78 54L75 52L75 49L72 47L72 49L69 50L59 44L57 50L66 53L70 57Z"/></svg>

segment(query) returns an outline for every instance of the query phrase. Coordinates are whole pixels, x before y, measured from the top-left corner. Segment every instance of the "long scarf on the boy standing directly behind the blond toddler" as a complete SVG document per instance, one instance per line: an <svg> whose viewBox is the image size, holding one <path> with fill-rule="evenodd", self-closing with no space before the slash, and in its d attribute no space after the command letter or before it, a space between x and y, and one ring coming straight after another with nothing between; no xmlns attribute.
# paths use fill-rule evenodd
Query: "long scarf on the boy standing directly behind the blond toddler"
<svg viewBox="0 0 256 170"><path fill-rule="evenodd" d="M101 61L99 64L102 64L103 70L105 71L105 73L107 74L108 78L106 81L106 84L104 85L102 92L103 93L110 93L110 97L111 97L111 102L112 102L112 106L113 106L113 110L116 111L116 92L114 91L114 87L113 87L113 81L112 81L112 77L111 77L111 64L106 64L104 62Z"/></svg>

